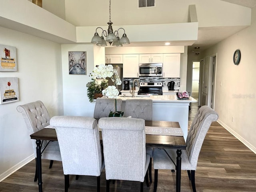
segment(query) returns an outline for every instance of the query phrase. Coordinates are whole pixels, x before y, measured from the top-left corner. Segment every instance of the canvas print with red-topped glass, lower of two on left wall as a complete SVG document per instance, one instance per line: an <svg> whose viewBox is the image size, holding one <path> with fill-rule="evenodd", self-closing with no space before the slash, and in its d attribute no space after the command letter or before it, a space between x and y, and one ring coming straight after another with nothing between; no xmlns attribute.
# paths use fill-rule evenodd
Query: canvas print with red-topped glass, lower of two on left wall
<svg viewBox="0 0 256 192"><path fill-rule="evenodd" d="M19 87L17 77L0 78L0 104L19 101Z"/></svg>

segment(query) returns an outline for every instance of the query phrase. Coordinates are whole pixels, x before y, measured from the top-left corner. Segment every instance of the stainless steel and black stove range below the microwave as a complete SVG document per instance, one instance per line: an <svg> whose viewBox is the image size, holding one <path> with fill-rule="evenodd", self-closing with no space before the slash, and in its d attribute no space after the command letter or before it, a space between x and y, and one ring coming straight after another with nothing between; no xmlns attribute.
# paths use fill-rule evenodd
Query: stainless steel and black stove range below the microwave
<svg viewBox="0 0 256 192"><path fill-rule="evenodd" d="M162 95L162 82L140 82L138 95Z"/></svg>

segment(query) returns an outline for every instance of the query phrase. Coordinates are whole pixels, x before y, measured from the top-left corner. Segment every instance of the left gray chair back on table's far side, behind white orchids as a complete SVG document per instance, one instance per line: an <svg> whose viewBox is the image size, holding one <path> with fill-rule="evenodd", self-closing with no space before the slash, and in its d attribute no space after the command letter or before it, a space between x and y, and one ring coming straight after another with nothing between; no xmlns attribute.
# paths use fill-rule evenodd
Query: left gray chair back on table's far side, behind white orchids
<svg viewBox="0 0 256 192"><path fill-rule="evenodd" d="M121 110L122 99L116 99L116 110ZM111 111L115 111L115 99L97 98L94 108L94 118L108 117Z"/></svg>

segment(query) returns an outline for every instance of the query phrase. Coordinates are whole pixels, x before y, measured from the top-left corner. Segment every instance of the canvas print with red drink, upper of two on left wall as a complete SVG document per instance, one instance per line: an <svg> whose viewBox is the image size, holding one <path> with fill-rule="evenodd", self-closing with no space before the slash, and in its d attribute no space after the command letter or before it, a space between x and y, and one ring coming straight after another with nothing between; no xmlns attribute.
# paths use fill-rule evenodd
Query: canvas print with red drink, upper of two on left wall
<svg viewBox="0 0 256 192"><path fill-rule="evenodd" d="M0 45L0 71L17 71L16 48Z"/></svg>

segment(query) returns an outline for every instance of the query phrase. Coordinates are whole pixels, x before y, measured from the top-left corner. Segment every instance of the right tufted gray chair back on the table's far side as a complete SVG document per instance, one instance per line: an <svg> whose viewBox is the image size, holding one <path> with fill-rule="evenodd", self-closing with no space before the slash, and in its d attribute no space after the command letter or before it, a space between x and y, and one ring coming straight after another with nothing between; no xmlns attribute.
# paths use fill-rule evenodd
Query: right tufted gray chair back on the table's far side
<svg viewBox="0 0 256 192"><path fill-rule="evenodd" d="M127 99L124 117L152 120L152 99Z"/></svg>

